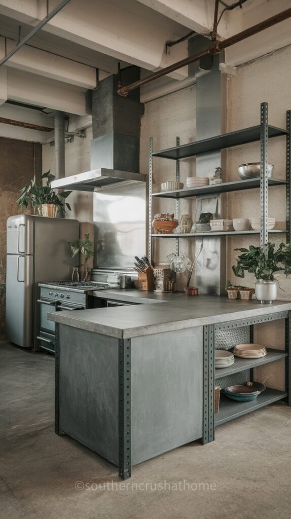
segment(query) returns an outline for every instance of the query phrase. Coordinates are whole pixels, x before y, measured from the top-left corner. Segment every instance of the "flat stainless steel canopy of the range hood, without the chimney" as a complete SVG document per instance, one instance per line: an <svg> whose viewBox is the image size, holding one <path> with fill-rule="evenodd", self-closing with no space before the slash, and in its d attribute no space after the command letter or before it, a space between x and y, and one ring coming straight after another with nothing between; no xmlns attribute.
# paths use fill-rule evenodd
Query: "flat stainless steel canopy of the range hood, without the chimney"
<svg viewBox="0 0 291 519"><path fill-rule="evenodd" d="M133 184L135 182L145 182L146 175L132 173L130 171L119 171L116 169L99 168L77 175L66 176L63 179L54 180L51 183L53 189L65 188L78 191L99 191L103 187L120 183Z"/></svg>

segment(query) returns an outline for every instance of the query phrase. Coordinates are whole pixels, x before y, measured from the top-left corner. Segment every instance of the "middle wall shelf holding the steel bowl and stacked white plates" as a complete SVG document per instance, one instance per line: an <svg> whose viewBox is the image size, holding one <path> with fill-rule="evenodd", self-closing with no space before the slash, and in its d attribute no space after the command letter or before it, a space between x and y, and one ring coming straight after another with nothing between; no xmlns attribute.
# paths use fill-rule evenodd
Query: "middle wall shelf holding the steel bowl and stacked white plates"
<svg viewBox="0 0 291 519"><path fill-rule="evenodd" d="M286 180L269 179L269 187L286 185ZM249 180L238 180L236 182L224 182L223 184L212 184L210 186L193 187L191 189L178 189L176 191L167 191L161 193L152 193L152 197L159 198L189 198L203 195L219 195L221 193L230 193L232 191L241 191L243 189L255 189L260 187L260 178Z"/></svg>

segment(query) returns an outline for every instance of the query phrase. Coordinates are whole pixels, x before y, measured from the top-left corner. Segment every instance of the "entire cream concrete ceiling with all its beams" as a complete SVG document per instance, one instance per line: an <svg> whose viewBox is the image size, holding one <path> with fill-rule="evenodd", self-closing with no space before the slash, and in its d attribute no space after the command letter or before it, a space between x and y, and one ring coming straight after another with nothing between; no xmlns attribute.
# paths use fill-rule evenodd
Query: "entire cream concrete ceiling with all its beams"
<svg viewBox="0 0 291 519"><path fill-rule="evenodd" d="M50 0L49 10L60 2ZM8 117L12 108L5 101L10 99L86 118L85 94L96 86L96 69L102 79L116 73L120 61L121 67L135 64L143 69L143 74L148 74L185 58L187 42L171 47L168 52L165 44L189 31L208 36L214 3L215 0L71 0L1 67L0 116L5 117L2 113L5 109ZM224 4L231 5L232 0L224 0ZM288 7L291 0L248 0L242 9L224 14L218 26L219 38L236 34ZM219 9L221 12L222 4ZM0 0L0 57L5 56L5 45L6 51L16 46L19 25L22 38L45 16L46 0ZM4 37L9 38L6 44ZM227 49L225 63L235 67L289 44L291 21L286 20ZM176 84L181 87L189 80L184 67L164 78L157 89L161 85L175 89ZM154 95L155 84L148 88L150 95ZM13 106L13 117L16 108ZM23 110L29 108L22 107L21 112L29 117ZM34 120L35 117L34 114ZM45 126L44 117L47 116L38 112ZM7 130L7 125L0 125L0 134L3 127ZM26 131L32 139L34 130L19 130ZM19 134L19 130L11 127L11 132Z"/></svg>

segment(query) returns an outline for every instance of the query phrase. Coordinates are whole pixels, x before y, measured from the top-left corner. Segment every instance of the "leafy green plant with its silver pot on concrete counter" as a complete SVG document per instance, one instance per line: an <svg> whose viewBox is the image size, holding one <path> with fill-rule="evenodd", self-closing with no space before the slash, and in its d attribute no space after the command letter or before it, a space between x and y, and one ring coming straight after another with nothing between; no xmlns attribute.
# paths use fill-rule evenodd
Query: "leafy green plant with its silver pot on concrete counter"
<svg viewBox="0 0 291 519"><path fill-rule="evenodd" d="M278 282L274 273L283 271L286 276L291 274L291 244L280 243L275 250L274 243L268 243L267 249L250 245L248 249L234 249L242 254L237 258L237 265L232 270L235 276L244 278L244 272L254 274L256 298L261 303L271 303L277 297Z"/></svg>

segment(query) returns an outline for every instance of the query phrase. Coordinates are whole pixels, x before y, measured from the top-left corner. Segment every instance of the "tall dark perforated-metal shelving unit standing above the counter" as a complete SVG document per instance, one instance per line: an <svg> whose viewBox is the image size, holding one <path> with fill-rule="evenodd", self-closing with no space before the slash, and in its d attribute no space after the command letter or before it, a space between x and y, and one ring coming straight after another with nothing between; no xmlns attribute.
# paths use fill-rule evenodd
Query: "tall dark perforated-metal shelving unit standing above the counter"
<svg viewBox="0 0 291 519"><path fill-rule="evenodd" d="M286 136L286 180L268 179L267 165L268 165L268 140L278 136ZM193 157L202 153L210 153L219 151L220 149L239 146L255 141L260 141L260 178L241 180L237 182L225 182L222 184L214 184L210 186L196 187L192 189L179 189L176 191L165 193L153 193L153 157L168 158L176 160L176 181L179 182L179 160L186 157ZM244 234L259 234L260 244L266 247L268 243L268 235L272 234L286 234L287 242L291 241L291 225L290 225L290 203L291 203L291 111L286 113L286 129L277 128L268 124L268 104L261 103L260 105L260 124L250 128L225 133L223 135L216 135L209 139L192 142L190 144L179 144L179 138L176 138L176 146L172 148L163 149L161 151L153 152L153 139L150 139L150 153L149 153L149 222L148 222L148 256L152 259L152 240L153 238L175 238L176 239L176 254L179 251L179 238L195 238L202 236L237 236ZM286 186L286 230L268 229L268 191L269 187L285 185ZM221 193L231 193L245 189L260 189L260 208L262 226L260 231L237 231L221 232L221 233L187 233L187 234L153 234L152 229L152 204L153 198L173 198L176 199L176 217L179 220L179 199L193 198L205 195L218 195Z"/></svg>

